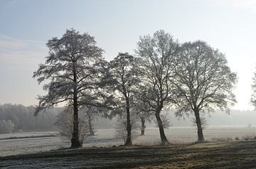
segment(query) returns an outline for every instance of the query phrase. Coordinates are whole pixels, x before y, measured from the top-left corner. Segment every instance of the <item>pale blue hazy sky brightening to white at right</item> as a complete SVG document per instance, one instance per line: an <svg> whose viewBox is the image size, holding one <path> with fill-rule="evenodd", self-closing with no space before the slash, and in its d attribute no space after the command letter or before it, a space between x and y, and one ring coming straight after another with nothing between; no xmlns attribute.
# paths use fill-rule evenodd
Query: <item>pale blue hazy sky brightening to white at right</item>
<svg viewBox="0 0 256 169"><path fill-rule="evenodd" d="M139 36L159 29L180 42L205 40L238 73L233 109L252 109L256 0L0 0L0 104L37 104L43 90L33 71L44 62L47 40L67 28L95 36L108 60L134 54Z"/></svg>

